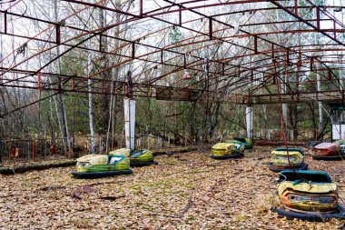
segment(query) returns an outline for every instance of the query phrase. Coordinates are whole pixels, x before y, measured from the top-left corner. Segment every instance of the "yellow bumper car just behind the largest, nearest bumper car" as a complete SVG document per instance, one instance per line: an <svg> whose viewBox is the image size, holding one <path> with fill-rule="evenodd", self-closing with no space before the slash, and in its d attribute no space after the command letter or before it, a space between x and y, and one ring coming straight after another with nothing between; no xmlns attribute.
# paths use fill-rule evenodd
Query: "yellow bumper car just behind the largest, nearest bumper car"
<svg viewBox="0 0 345 230"><path fill-rule="evenodd" d="M281 172L282 170L291 169L291 166L295 170L306 170L308 165L304 163L304 152L301 148L276 148L271 152L271 164L269 168L273 172Z"/></svg>

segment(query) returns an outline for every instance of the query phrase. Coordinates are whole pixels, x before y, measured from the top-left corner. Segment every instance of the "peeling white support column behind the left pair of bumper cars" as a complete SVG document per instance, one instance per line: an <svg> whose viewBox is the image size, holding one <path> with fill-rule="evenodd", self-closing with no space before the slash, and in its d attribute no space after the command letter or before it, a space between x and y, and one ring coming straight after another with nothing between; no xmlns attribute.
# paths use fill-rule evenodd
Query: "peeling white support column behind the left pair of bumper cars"
<svg viewBox="0 0 345 230"><path fill-rule="evenodd" d="M130 98L123 99L124 111L124 136L126 148L134 149L135 145L135 100Z"/></svg>

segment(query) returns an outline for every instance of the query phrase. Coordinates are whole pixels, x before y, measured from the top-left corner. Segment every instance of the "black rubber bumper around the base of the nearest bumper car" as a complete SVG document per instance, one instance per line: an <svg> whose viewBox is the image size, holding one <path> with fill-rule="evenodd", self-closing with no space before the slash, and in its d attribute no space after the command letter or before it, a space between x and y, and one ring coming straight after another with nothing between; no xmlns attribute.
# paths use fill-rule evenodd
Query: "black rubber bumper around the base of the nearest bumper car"
<svg viewBox="0 0 345 230"><path fill-rule="evenodd" d="M307 221L323 221L327 219L337 218L340 220L345 219L345 208L341 205L335 207L335 211L332 214L320 214L320 213L297 213L288 210L284 210L278 207L271 207L271 211L278 213L278 215L285 216L288 219L300 219Z"/></svg>

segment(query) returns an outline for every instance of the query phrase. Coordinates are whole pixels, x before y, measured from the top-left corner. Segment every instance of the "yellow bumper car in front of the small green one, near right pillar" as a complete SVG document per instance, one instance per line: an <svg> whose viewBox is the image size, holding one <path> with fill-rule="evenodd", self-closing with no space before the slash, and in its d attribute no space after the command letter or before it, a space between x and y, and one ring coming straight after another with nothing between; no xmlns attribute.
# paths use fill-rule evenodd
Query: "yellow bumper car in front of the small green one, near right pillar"
<svg viewBox="0 0 345 230"><path fill-rule="evenodd" d="M239 158L244 156L244 145L236 140L230 143L218 143L212 146L210 157L216 160Z"/></svg>

